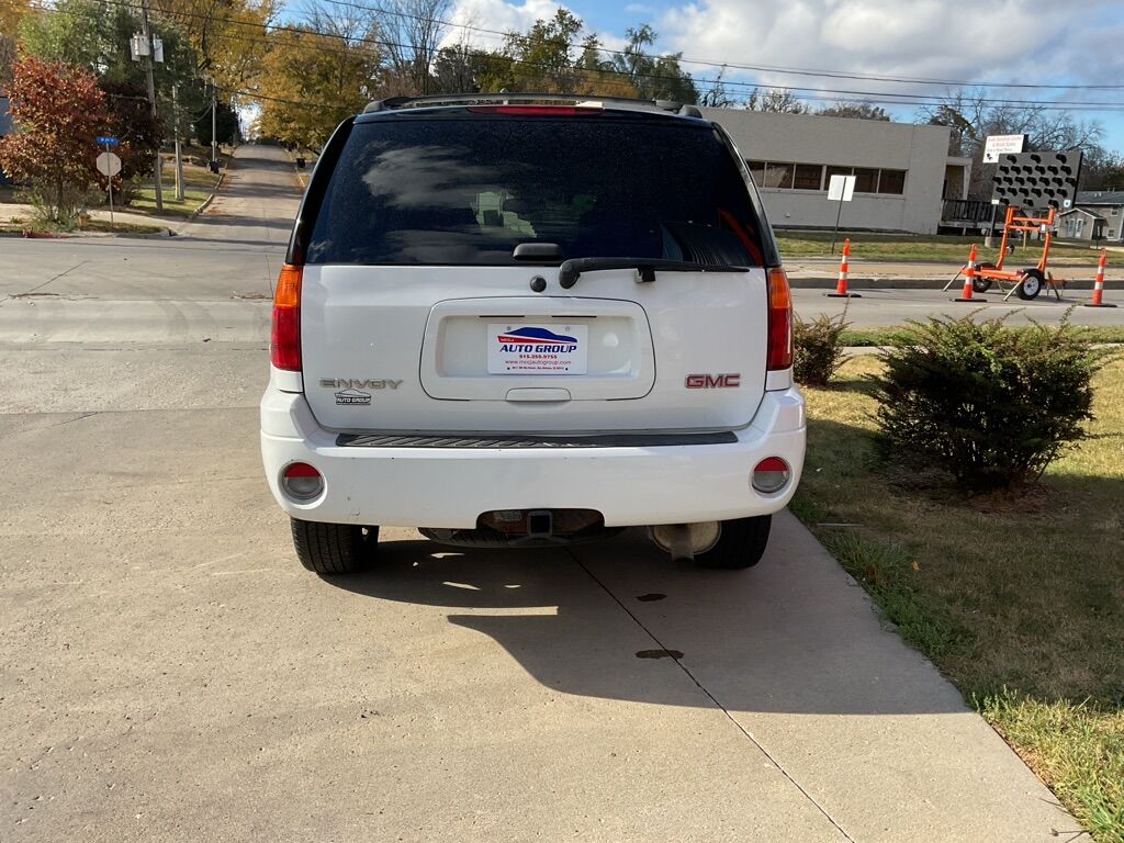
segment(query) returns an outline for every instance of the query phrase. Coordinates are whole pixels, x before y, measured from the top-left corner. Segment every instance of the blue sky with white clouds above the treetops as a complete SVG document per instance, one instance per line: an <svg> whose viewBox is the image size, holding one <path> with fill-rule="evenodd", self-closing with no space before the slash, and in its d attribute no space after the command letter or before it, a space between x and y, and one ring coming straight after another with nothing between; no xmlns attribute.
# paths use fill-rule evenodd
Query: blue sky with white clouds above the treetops
<svg viewBox="0 0 1124 843"><path fill-rule="evenodd" d="M623 45L628 27L651 24L659 34L653 52L681 52L683 69L703 89L710 87L705 80L716 79L722 64L753 65L727 66L724 79L735 99L744 99L753 84L791 88L815 98L885 98L894 92L928 101L958 87L928 80L1076 85L988 88L986 96L1070 103L1075 117L1103 125L1102 145L1124 151L1120 0L1080 0L1068 9L1025 0L454 0L448 19L475 29L452 29L446 39L495 47L500 36L481 29L524 30L561 6L610 48ZM792 72L797 70L859 78ZM912 121L916 110L883 107L905 121Z"/></svg>

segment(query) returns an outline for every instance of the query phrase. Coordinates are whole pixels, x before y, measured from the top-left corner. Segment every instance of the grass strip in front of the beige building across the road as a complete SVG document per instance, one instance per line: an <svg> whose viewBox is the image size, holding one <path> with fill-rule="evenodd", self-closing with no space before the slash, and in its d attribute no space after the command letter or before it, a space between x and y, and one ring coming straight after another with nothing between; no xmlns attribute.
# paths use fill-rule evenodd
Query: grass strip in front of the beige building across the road
<svg viewBox="0 0 1124 843"><path fill-rule="evenodd" d="M851 238L851 257L854 261L941 261L963 263L968 260L971 244L979 246L980 261L995 261L998 254L998 239L995 248L984 248L984 238L957 237L951 235L915 235L915 234L871 234L869 232L840 232L835 244L835 255L843 251L843 238ZM781 256L789 257L827 257L832 244L831 232L778 232L777 245ZM1026 265L1026 257L1034 256L1031 263L1037 263L1042 246L1035 246L1032 241L1026 248L1015 244L1015 253L1007 261L1017 261L1016 265ZM1100 253L1088 246L1076 246L1054 243L1050 247L1051 262L1096 263Z"/></svg>

